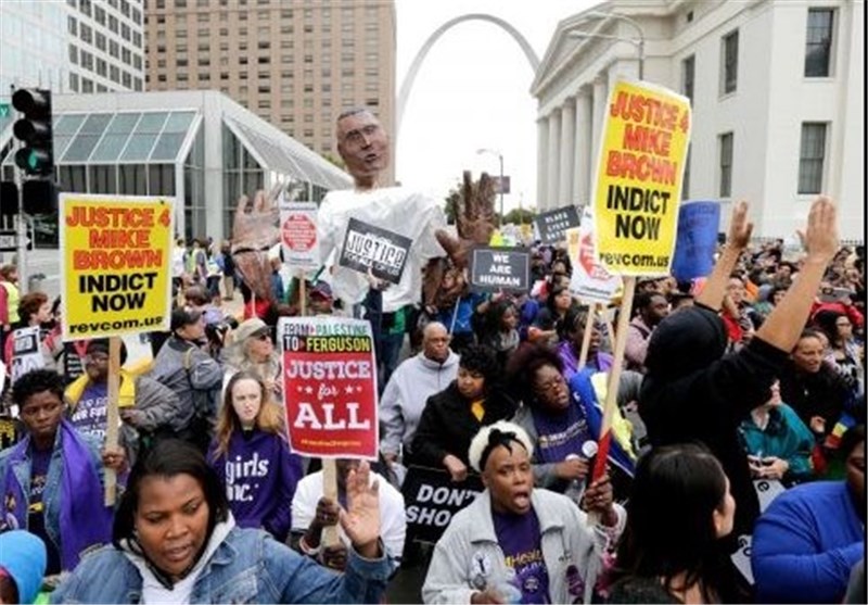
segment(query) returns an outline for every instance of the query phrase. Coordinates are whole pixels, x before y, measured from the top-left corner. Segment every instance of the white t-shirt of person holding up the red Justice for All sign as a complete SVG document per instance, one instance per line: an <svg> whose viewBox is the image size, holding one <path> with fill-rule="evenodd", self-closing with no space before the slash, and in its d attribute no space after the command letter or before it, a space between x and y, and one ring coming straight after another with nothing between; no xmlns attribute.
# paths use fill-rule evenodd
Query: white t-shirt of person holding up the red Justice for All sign
<svg viewBox="0 0 868 605"><path fill-rule="evenodd" d="M404 496L386 479L371 471L371 482L380 482L380 537L383 539L388 556L400 559L404 553L404 539L407 535L407 517L404 511ZM317 503L322 497L322 471L307 475L295 486L292 499L292 531L304 532L317 515ZM337 524L341 540L349 547L349 539Z"/></svg>

